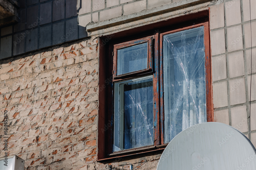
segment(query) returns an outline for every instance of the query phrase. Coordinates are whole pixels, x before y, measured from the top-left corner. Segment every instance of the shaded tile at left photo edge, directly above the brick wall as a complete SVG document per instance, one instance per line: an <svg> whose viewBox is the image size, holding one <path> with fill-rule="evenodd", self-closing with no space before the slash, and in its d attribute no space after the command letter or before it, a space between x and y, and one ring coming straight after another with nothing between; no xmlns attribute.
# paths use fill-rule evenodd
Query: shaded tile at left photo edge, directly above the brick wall
<svg viewBox="0 0 256 170"><path fill-rule="evenodd" d="M0 59L12 56L12 35L1 38Z"/></svg>

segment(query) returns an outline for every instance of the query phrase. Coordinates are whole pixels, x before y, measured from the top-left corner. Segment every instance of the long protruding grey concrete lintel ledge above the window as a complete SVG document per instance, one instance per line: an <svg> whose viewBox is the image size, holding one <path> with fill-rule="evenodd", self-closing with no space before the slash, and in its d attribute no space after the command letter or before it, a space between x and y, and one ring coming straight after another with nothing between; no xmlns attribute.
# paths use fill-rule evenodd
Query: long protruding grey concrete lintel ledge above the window
<svg viewBox="0 0 256 170"><path fill-rule="evenodd" d="M210 2L210 1L211 0L183 0L179 2L173 2L164 6L145 9L143 11L136 12L134 14L120 16L110 20L89 23L86 26L86 28L88 32L94 32L94 31L114 27L117 25L122 25L129 22L138 21L141 19L162 15L167 12L177 11L180 9L188 8L191 6L195 6L195 5L202 4L205 2Z"/></svg>

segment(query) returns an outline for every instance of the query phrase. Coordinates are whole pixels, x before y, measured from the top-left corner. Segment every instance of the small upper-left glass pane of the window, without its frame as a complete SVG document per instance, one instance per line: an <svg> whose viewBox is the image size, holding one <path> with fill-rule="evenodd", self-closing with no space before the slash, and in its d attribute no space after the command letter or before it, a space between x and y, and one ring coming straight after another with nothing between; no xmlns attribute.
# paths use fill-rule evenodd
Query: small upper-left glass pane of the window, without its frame
<svg viewBox="0 0 256 170"><path fill-rule="evenodd" d="M147 69L147 43L117 50L117 75Z"/></svg>

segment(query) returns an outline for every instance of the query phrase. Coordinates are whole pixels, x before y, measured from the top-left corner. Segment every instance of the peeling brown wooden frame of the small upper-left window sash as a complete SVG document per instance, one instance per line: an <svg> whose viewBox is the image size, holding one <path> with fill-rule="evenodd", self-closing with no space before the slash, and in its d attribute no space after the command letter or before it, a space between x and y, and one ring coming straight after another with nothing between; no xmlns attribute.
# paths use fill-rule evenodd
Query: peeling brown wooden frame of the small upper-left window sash
<svg viewBox="0 0 256 170"><path fill-rule="evenodd" d="M134 72L129 72L129 73L125 73L125 74L121 74L121 75L117 75L117 60L118 60L118 50L119 49L123 49L126 47L131 47L134 45L139 45L142 43L147 43L147 68L143 69L143 70L138 70L138 71L134 71ZM114 79L119 79L119 78L123 78L123 77L129 77L129 76L133 76L133 75L138 75L138 74L142 74L142 73L148 73L148 72L152 72L152 37L147 37L147 38L141 38L138 40L134 40L134 41L129 41L129 42L124 42L124 43L120 43L120 44L115 44L114 45L114 50L113 50L113 78Z"/></svg>

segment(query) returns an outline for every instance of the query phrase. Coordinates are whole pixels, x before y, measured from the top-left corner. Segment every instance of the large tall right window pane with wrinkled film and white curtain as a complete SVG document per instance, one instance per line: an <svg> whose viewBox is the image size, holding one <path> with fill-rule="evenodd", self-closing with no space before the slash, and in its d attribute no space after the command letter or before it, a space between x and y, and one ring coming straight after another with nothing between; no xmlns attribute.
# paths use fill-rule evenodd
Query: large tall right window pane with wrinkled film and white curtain
<svg viewBox="0 0 256 170"><path fill-rule="evenodd" d="M207 122L204 27L164 35L164 142Z"/></svg>

